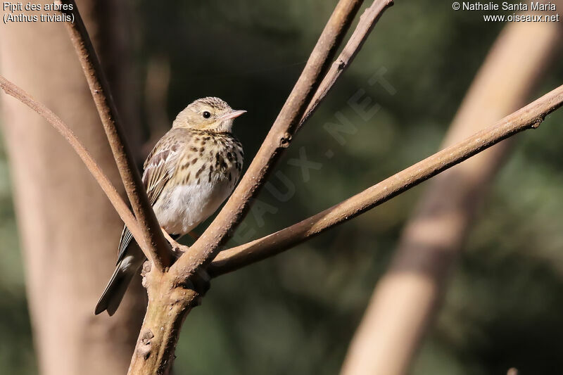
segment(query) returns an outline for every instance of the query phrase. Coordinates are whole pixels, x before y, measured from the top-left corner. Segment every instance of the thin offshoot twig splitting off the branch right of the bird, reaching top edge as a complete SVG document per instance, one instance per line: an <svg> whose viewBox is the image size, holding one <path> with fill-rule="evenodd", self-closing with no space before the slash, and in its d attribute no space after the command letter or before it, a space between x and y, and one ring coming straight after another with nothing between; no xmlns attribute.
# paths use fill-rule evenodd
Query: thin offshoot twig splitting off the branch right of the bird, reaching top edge
<svg viewBox="0 0 563 375"><path fill-rule="evenodd" d="M348 39L348 42L346 42L346 46L344 46L339 57L336 58L336 61L332 63L327 75L325 75L322 79L317 92L315 92L307 110L305 110L305 114L301 117L298 128L300 128L301 125L303 125L303 123L312 116L321 101L325 96L327 96L330 89L334 86L336 80L339 79L344 70L350 66L358 52L360 52L362 45L367 37L369 37L369 33L372 32L377 20L379 20L379 17L381 17L383 12L392 5L393 0L374 0L373 4L369 6L369 8L366 8L364 13L362 13L360 16L360 22L356 25L352 36Z"/></svg>

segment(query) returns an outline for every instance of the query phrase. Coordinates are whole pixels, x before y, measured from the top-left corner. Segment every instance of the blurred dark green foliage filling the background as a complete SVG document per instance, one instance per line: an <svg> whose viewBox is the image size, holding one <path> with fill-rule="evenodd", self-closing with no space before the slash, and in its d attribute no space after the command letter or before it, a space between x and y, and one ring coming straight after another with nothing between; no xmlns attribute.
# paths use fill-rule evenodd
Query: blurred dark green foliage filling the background
<svg viewBox="0 0 563 375"><path fill-rule="evenodd" d="M202 96L248 110L235 127L248 165L334 1L136 0L131 6L129 84L141 103L139 132L147 148L148 139L166 131L148 120L155 108L144 97L157 62L157 70L170 72L160 98L167 122ZM264 189L232 242L297 222L436 151L502 26L431 0L400 1L386 11L279 163L294 193L289 189L288 199L279 201ZM393 89L370 84L374 75ZM562 65L552 65L533 98L562 82ZM367 121L347 104L358 90L381 106ZM354 134L343 134L344 144L323 128L338 122L336 113L355 127ZM538 375L563 367L562 122L559 110L538 130L515 137L412 374L505 374L517 367ZM316 169L303 174L295 165L300 153L318 163ZM272 184L287 192L280 179L272 177ZM337 374L422 189L424 184L287 253L213 281L184 324L176 373ZM4 148L0 248L0 373L35 374Z"/></svg>

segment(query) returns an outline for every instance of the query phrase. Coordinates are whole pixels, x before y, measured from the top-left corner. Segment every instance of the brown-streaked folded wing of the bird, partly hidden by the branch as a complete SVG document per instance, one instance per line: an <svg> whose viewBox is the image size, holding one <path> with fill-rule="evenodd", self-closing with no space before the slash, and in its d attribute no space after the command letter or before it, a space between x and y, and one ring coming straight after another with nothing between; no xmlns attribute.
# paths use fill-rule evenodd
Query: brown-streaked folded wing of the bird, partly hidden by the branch
<svg viewBox="0 0 563 375"><path fill-rule="evenodd" d="M143 184L148 196L148 202L154 205L164 186L172 178L175 162L179 153L179 140L169 132L163 136L148 154L144 163ZM118 263L125 255L125 250L132 239L132 234L127 226L123 227L119 241Z"/></svg>

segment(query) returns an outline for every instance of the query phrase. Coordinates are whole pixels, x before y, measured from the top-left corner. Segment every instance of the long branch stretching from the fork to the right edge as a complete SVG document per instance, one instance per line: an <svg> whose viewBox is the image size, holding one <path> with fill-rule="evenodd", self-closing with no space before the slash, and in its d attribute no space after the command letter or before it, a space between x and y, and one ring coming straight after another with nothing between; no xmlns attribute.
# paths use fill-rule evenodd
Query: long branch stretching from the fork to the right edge
<svg viewBox="0 0 563 375"><path fill-rule="evenodd" d="M559 86L533 103L503 118L495 125L483 129L460 143L444 148L442 151L348 198L346 201L262 239L222 251L210 263L208 272L212 277L217 277L288 250L298 243L307 241L331 227L346 222L398 196L403 191L434 177L443 170L461 163L494 144L498 144L503 139L526 129L537 128L546 115L562 105L563 86Z"/></svg>

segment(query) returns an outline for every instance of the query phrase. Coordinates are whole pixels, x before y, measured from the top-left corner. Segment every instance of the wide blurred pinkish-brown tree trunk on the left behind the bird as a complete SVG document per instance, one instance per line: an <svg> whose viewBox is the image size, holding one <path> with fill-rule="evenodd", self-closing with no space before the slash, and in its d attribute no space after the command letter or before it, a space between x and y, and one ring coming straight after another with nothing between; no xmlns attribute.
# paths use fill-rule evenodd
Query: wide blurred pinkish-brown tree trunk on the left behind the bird
<svg viewBox="0 0 563 375"><path fill-rule="evenodd" d="M79 4L88 26L106 27L91 19L93 3ZM117 49L104 47L120 60ZM0 69L60 115L115 186L122 185L64 25L2 25ZM39 371L125 374L146 306L140 283L112 319L94 316L122 222L63 138L22 103L0 97Z"/></svg>

